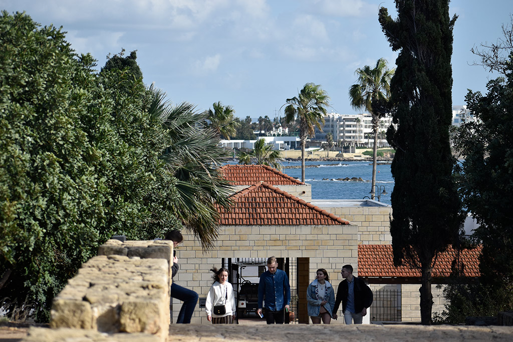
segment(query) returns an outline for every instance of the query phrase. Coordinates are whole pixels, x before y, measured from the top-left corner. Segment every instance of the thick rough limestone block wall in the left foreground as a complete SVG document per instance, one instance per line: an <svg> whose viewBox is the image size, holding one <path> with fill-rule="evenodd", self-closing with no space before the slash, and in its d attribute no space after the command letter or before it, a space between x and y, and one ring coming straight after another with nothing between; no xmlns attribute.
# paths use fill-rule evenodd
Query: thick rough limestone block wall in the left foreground
<svg viewBox="0 0 513 342"><path fill-rule="evenodd" d="M143 333L167 340L172 253L168 241L109 240L53 299L50 327L55 330L45 334L63 334L62 328L70 328L84 329L84 334Z"/></svg>

